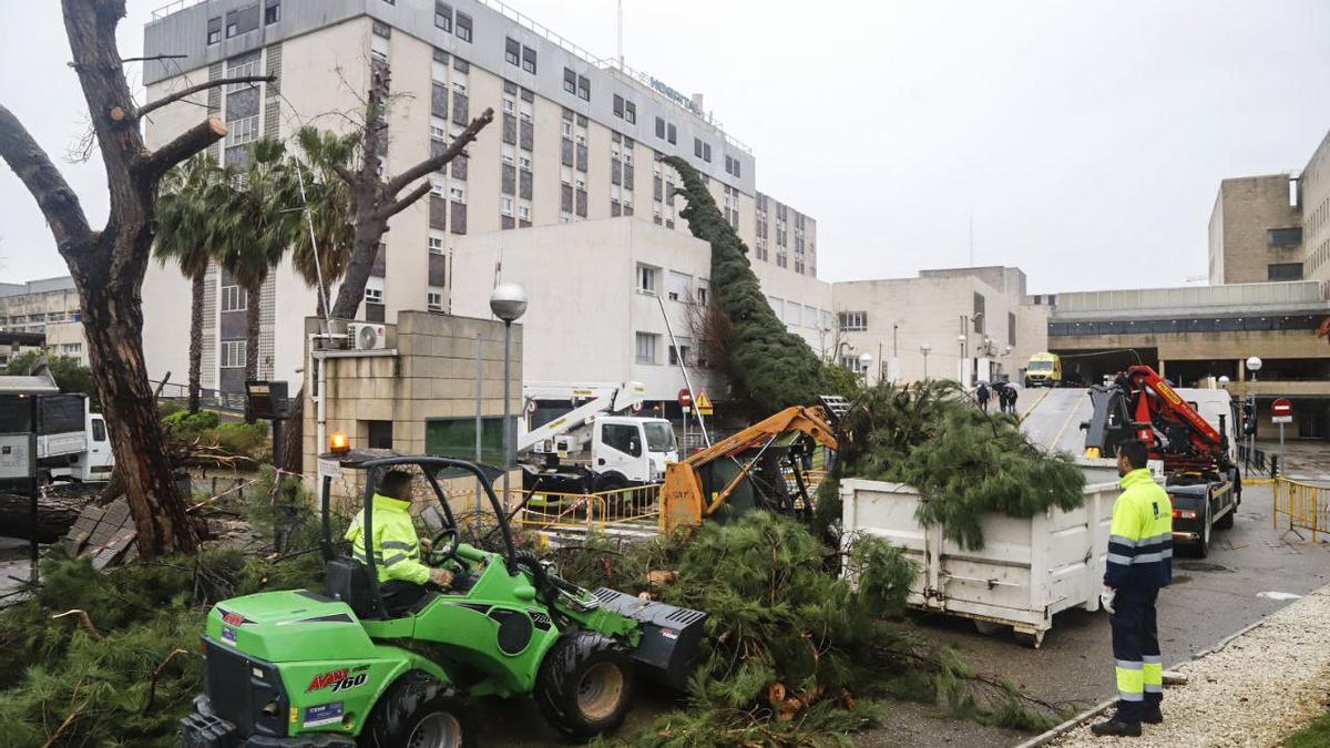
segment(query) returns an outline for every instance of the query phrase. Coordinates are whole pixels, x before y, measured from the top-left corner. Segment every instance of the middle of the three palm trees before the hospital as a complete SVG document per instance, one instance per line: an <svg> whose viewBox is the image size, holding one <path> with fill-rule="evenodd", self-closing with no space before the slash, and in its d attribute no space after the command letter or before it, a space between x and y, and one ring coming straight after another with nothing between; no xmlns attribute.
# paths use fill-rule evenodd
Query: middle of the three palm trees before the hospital
<svg viewBox="0 0 1330 748"><path fill-rule="evenodd" d="M259 299L267 274L295 238L299 213L286 176L285 148L261 138L249 150L243 170L225 169L225 197L214 202L217 249L223 268L247 295L245 378L258 378ZM249 405L245 421L254 422Z"/></svg>

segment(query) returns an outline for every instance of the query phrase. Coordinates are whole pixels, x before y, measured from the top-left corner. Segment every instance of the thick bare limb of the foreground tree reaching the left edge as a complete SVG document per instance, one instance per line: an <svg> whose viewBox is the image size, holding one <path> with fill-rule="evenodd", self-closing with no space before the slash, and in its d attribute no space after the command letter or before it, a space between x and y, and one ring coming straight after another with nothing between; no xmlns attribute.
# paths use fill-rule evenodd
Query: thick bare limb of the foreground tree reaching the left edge
<svg viewBox="0 0 1330 748"><path fill-rule="evenodd" d="M86 246L92 229L78 197L47 152L5 106L0 106L0 157L37 200L60 253L69 254Z"/></svg>

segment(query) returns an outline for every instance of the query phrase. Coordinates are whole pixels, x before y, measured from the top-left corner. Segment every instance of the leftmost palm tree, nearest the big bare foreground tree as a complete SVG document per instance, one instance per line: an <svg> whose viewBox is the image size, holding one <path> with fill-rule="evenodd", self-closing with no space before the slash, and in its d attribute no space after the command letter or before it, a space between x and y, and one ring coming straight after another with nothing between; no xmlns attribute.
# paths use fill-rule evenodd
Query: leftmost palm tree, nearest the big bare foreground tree
<svg viewBox="0 0 1330 748"><path fill-rule="evenodd" d="M190 280L189 319L189 411L198 411L200 369L203 355L203 280L213 260L210 249L213 206L221 169L200 153L166 173L157 198L157 245L154 254L165 265L174 261Z"/></svg>

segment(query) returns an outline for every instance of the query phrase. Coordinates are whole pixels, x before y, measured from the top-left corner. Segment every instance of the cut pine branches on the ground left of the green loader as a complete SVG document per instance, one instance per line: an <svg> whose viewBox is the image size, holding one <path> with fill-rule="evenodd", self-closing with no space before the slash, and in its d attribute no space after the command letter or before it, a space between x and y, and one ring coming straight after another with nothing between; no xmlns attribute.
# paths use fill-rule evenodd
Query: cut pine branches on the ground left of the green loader
<svg viewBox="0 0 1330 748"><path fill-rule="evenodd" d="M298 519L291 546L314 547L309 508ZM319 588L322 571L318 554L269 560L209 550L102 574L52 550L37 596L0 611L0 741L177 745L177 723L202 689L197 652L207 608L265 590ZM92 630L77 612L53 618L65 611L86 612Z"/></svg>

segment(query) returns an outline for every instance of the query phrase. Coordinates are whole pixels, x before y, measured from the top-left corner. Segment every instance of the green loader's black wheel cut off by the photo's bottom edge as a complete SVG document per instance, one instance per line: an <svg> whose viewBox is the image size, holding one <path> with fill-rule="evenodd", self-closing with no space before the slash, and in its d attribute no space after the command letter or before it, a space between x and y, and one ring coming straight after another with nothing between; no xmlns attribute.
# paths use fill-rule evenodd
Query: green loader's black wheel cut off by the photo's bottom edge
<svg viewBox="0 0 1330 748"><path fill-rule="evenodd" d="M379 699L360 733L360 748L475 748L471 709L448 685L411 671Z"/></svg>

